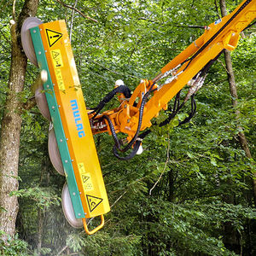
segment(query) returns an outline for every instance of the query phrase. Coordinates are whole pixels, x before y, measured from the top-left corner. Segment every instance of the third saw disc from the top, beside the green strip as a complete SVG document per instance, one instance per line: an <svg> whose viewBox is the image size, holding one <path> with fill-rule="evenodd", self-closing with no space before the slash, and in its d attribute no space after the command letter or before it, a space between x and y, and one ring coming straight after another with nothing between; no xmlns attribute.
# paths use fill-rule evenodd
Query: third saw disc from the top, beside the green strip
<svg viewBox="0 0 256 256"><path fill-rule="evenodd" d="M64 168L61 162L61 154L57 145L54 129L49 130L48 151L49 151L49 159L52 165L55 167L55 170L59 172L61 175L65 176Z"/></svg>

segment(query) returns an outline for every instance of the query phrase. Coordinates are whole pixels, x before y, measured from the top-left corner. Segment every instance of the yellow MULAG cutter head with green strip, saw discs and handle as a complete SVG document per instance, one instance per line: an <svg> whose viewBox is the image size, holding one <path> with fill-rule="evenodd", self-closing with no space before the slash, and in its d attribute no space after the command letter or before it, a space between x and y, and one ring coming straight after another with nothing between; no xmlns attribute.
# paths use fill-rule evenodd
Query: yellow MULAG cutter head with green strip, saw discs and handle
<svg viewBox="0 0 256 256"><path fill-rule="evenodd" d="M61 196L64 215L73 227L84 226L91 235L102 228L103 214L110 207L65 21L42 23L27 18L21 42L30 61L48 74L35 97L50 121L50 160L67 178ZM88 230L86 219L96 216L101 223Z"/></svg>

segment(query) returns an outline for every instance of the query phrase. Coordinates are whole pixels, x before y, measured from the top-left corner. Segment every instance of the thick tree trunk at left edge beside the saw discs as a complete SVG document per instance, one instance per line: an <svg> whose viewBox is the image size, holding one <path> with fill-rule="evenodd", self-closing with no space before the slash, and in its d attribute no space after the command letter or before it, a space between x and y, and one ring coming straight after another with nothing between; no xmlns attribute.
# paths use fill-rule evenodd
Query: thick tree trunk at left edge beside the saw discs
<svg viewBox="0 0 256 256"><path fill-rule="evenodd" d="M11 67L9 72L9 93L5 102L0 134L0 230L15 235L15 220L18 201L10 192L18 189L18 164L20 148L21 102L26 74L26 55L20 45L20 28L26 17L34 16L38 0L26 0L18 20L11 25ZM13 22L14 23L14 22ZM7 240L7 236L3 236Z"/></svg>

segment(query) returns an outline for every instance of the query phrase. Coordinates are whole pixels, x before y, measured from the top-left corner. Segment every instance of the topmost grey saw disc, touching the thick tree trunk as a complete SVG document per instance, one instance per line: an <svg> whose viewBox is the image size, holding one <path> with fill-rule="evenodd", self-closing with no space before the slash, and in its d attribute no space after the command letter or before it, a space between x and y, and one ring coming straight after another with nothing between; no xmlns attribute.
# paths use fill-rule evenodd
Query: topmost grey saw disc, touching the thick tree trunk
<svg viewBox="0 0 256 256"><path fill-rule="evenodd" d="M26 57L38 67L38 61L35 54L34 46L32 44L32 38L29 29L42 24L43 22L36 17L29 17L24 20L21 26L21 44L25 51Z"/></svg>

